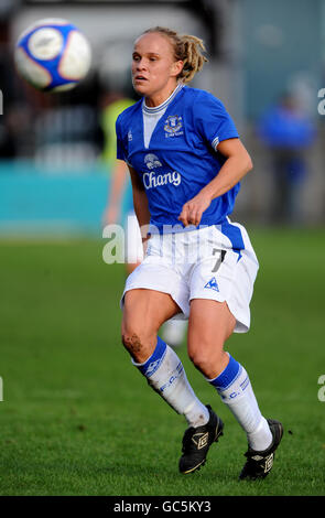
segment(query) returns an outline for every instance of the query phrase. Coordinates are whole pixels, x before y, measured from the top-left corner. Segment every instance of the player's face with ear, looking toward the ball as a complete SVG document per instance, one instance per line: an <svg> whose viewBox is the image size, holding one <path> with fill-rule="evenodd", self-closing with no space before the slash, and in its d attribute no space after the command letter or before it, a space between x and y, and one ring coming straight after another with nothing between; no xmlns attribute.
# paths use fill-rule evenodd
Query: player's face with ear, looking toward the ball
<svg viewBox="0 0 325 518"><path fill-rule="evenodd" d="M170 40L160 33L138 37L132 56L136 91L149 99L165 100L176 86L183 62L175 62Z"/></svg>

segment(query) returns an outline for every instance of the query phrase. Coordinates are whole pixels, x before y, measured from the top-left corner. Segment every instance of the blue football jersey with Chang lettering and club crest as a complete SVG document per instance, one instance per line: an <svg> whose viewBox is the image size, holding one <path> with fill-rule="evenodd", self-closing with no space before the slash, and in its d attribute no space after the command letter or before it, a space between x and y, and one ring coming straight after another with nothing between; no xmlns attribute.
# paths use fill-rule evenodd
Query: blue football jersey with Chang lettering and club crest
<svg viewBox="0 0 325 518"><path fill-rule="evenodd" d="M117 157L130 164L145 188L151 225L183 226L183 205L207 185L225 158L216 151L219 142L238 138L223 102L212 94L184 86L169 102L148 147L144 145L143 102L127 108L117 119ZM240 184L213 199L201 225L225 222L234 209Z"/></svg>

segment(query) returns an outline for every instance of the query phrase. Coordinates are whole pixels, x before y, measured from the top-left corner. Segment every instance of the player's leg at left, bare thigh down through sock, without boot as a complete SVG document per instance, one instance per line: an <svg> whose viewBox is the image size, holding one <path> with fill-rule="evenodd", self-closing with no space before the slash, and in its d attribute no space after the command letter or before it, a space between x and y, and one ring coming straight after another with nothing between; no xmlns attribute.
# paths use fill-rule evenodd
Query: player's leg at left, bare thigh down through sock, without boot
<svg viewBox="0 0 325 518"><path fill-rule="evenodd" d="M158 336L161 324L178 312L180 307L166 293L147 289L128 291L122 343L149 385L177 413L185 416L188 425L197 427L208 421L208 409L195 396L178 356Z"/></svg>

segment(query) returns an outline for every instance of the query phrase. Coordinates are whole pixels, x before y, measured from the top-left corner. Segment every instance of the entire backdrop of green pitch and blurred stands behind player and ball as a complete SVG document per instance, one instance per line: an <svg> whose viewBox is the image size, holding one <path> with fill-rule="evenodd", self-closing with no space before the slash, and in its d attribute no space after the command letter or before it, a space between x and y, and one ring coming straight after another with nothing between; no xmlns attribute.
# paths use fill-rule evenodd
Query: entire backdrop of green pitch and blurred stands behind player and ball
<svg viewBox="0 0 325 518"><path fill-rule="evenodd" d="M90 42L74 90L42 94L14 71L19 34L44 18ZM132 44L158 24L205 41L193 86L224 101L254 164L231 219L261 271L251 331L227 347L284 425L263 487L239 487L246 436L185 337L177 354L227 438L184 483L183 420L121 347L127 272L102 260L104 213ZM324 495L325 0L0 0L0 495Z"/></svg>

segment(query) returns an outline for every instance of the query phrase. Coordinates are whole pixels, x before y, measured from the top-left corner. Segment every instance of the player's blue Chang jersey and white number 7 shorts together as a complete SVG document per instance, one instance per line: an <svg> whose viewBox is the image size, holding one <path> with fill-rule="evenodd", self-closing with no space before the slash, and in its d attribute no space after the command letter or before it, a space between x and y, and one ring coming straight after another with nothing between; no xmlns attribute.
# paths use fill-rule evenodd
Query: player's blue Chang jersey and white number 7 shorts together
<svg viewBox="0 0 325 518"><path fill-rule="evenodd" d="M183 205L223 166L219 142L239 137L224 105L178 84L158 107L141 99L127 108L116 130L117 157L139 174L151 214L144 260L129 276L123 295L137 288L169 293L181 310L176 317L185 319L192 299L226 301L235 331L248 331L259 265L246 229L229 219L239 183L213 199L199 227L185 228L178 220Z"/></svg>

